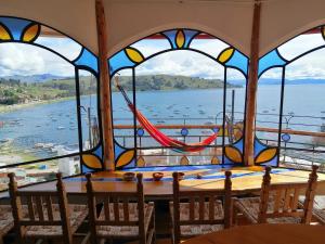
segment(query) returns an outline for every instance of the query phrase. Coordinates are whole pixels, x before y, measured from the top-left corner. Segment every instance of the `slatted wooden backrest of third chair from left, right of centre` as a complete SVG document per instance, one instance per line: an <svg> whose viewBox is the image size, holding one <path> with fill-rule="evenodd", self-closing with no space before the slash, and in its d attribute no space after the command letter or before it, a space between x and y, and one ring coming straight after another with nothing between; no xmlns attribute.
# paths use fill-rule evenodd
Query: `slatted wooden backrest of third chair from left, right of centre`
<svg viewBox="0 0 325 244"><path fill-rule="evenodd" d="M232 181L231 171L225 171L224 189L219 190L193 190L180 187L179 174L173 172L173 221L176 239L180 235L180 226L191 224L224 224L231 226L231 195ZM223 218L216 218L217 201L223 198ZM188 204L188 219L181 220L180 203ZM176 243L179 243L176 240Z"/></svg>

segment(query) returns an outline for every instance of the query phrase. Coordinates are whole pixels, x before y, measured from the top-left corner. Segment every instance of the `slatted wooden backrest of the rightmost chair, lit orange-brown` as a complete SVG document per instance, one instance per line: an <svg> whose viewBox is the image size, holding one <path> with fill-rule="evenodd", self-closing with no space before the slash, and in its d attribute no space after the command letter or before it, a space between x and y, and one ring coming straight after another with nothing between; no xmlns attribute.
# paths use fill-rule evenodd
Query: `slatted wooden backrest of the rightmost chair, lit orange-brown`
<svg viewBox="0 0 325 244"><path fill-rule="evenodd" d="M300 217L302 223L310 223L317 184L317 168L312 167L307 183L271 184L271 168L266 167L260 194L258 222L264 223L268 218ZM303 209L299 209L300 195L306 196Z"/></svg>

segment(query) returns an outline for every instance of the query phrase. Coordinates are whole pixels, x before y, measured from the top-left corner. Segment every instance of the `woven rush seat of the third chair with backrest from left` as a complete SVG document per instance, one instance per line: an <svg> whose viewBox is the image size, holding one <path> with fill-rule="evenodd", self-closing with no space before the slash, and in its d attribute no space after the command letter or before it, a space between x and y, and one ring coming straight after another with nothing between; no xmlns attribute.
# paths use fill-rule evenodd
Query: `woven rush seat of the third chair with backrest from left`
<svg viewBox="0 0 325 244"><path fill-rule="evenodd" d="M171 219L173 221L173 203L169 203ZM204 205L204 220L209 220L209 203L206 202ZM224 216L222 202L214 202L214 220L222 220ZM199 219L199 204L196 202L194 204L194 219ZM190 203L180 203L180 220L190 220ZM195 236L200 234L207 234L213 231L223 230L223 224L188 224L181 226L181 236Z"/></svg>

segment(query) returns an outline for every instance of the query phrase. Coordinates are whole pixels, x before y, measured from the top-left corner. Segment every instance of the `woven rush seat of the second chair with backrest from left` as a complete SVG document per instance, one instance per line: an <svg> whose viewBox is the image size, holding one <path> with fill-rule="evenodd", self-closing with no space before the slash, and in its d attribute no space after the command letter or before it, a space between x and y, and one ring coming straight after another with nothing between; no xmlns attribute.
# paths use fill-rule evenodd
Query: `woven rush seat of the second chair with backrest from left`
<svg viewBox="0 0 325 244"><path fill-rule="evenodd" d="M119 204L119 219L122 221L125 219L123 216L123 205ZM138 221L138 204L136 203L129 203L129 220L130 221ZM151 219L154 215L154 203L148 203L144 205L144 228L145 232L148 231ZM113 204L109 204L109 218L114 221L114 209ZM102 209L99 220L105 219L104 209ZM101 237L130 237L130 236L139 236L139 227L136 226L98 226L96 227L96 234Z"/></svg>

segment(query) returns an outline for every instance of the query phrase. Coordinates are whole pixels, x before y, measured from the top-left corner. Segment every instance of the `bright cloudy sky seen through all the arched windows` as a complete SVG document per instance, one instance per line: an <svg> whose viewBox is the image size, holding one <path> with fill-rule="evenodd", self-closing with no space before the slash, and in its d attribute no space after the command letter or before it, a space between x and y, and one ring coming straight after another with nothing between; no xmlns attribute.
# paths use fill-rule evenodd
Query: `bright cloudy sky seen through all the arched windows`
<svg viewBox="0 0 325 244"><path fill-rule="evenodd" d="M69 60L74 60L81 47L67 38L40 37L36 41L39 44L48 44ZM278 48L280 53L291 60L292 57L324 44L320 34L299 36ZM142 40L132 47L139 49L145 56L156 51L164 50L169 43L167 40ZM208 52L211 56L229 47L220 40L194 40L191 47ZM58 76L73 76L74 67L52 52L23 43L0 44L0 77L10 75L39 75L53 74ZM122 72L121 74L128 74ZM138 75L167 74L202 77L208 79L223 79L223 67L211 59L192 51L171 51L155 56L136 67ZM281 72L269 70L263 78L280 78ZM287 66L288 79L325 79L325 50L320 50L306 55ZM229 79L243 79L239 72L232 70Z"/></svg>

